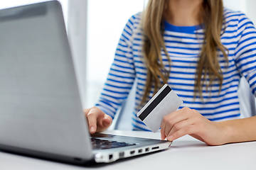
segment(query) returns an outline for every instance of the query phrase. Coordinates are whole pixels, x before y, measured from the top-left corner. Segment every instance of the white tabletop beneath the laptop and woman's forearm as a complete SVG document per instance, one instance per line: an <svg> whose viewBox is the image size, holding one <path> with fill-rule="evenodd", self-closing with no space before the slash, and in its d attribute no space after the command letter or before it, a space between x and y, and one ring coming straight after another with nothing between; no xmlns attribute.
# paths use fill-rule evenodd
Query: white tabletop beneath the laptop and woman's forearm
<svg viewBox="0 0 256 170"><path fill-rule="evenodd" d="M116 135L160 138L160 133L111 130ZM242 142L223 146L207 146L186 135L175 140L171 147L162 152L119 160L111 164L75 166L43 159L23 157L0 152L0 170L41 169L256 169L256 142Z"/></svg>

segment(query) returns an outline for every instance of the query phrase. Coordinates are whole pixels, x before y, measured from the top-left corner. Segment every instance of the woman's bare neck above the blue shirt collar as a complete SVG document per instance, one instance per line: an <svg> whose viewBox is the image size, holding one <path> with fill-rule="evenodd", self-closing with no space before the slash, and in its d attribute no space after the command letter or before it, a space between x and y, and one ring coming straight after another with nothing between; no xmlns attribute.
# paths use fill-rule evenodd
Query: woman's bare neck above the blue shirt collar
<svg viewBox="0 0 256 170"><path fill-rule="evenodd" d="M196 26L202 23L203 0L169 0L164 18L174 26Z"/></svg>

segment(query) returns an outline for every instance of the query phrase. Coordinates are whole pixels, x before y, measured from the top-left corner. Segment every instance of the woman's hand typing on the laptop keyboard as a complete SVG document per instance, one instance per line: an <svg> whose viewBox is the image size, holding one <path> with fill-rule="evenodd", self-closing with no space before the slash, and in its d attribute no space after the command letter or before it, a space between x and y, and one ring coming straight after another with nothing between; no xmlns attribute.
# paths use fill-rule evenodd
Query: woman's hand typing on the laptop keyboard
<svg viewBox="0 0 256 170"><path fill-rule="evenodd" d="M91 134L106 130L112 124L110 115L104 113L100 108L86 108L83 111L88 120L89 131Z"/></svg>

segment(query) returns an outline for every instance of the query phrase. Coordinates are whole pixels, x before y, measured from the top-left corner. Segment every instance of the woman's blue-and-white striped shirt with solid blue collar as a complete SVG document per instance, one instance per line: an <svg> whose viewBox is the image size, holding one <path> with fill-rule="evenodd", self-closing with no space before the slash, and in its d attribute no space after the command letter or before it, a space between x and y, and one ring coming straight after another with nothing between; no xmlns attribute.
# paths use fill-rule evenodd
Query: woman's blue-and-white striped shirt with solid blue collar
<svg viewBox="0 0 256 170"><path fill-rule="evenodd" d="M240 118L238 84L244 76L256 94L256 31L252 22L240 12L225 8L225 23L220 35L221 42L228 49L228 63L223 54L218 58L223 72L223 85L213 81L211 91L203 86L203 100L194 97L196 66L203 43L203 28L200 26L173 26L165 21L164 42L171 57L169 85L183 100L185 106L195 109L208 120L221 121ZM132 16L124 28L117 46L114 62L96 106L114 118L117 108L127 98L137 79L135 108L132 115L134 130L149 130L137 118L137 106L144 95L146 66L142 56L141 13ZM225 29L224 29L225 28ZM164 66L169 70L169 60L161 51ZM220 91L219 91L220 90ZM153 96L151 89L149 98ZM179 108L179 109L180 109ZM131 113L132 114L132 113Z"/></svg>

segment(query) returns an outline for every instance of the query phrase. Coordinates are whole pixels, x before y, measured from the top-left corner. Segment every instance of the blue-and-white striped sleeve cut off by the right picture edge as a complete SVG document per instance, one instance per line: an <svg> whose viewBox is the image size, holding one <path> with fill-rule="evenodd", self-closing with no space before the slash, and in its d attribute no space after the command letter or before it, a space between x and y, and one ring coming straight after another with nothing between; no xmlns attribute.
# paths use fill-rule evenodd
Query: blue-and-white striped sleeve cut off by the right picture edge
<svg viewBox="0 0 256 170"><path fill-rule="evenodd" d="M250 84L256 96L256 30L252 21L244 14L238 22L238 45L235 49L235 64Z"/></svg>

